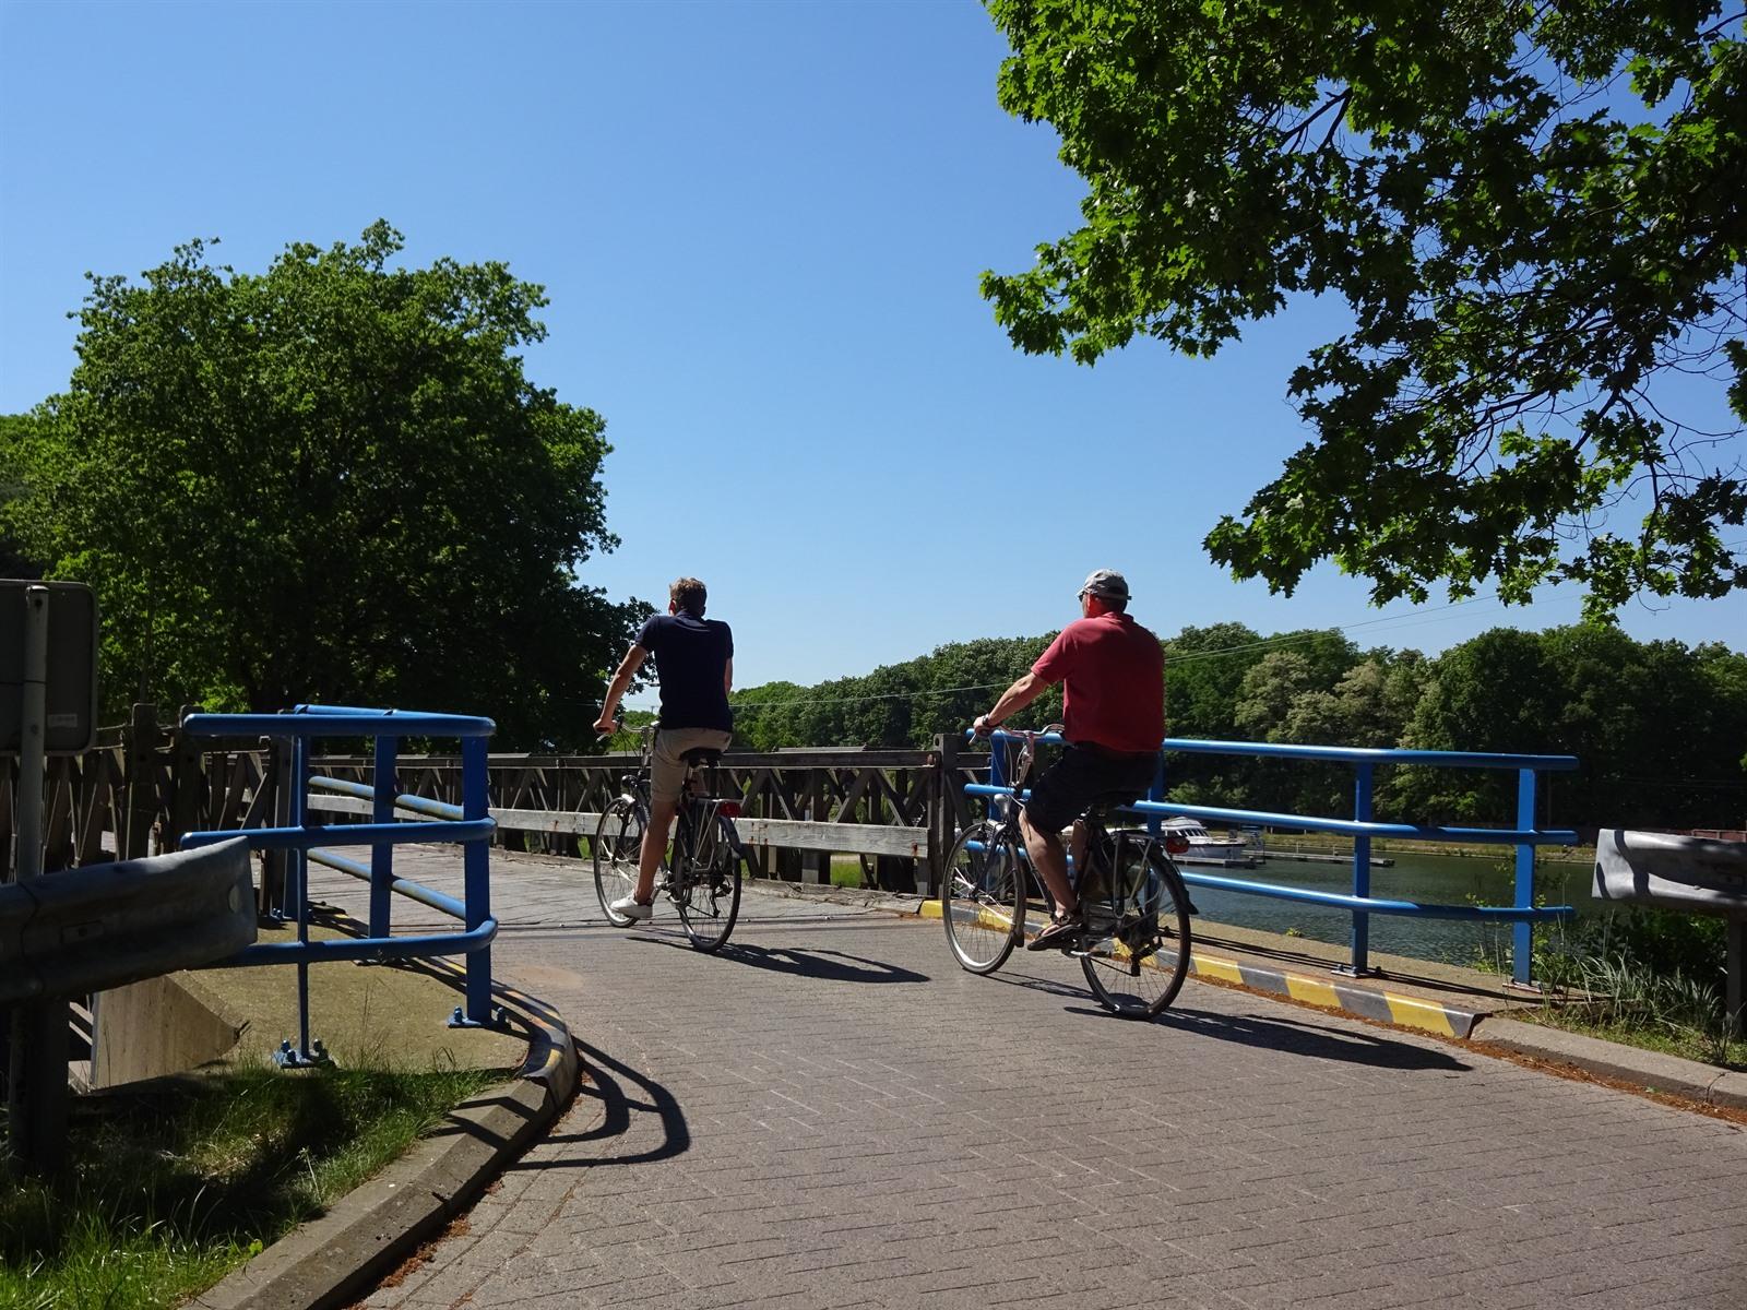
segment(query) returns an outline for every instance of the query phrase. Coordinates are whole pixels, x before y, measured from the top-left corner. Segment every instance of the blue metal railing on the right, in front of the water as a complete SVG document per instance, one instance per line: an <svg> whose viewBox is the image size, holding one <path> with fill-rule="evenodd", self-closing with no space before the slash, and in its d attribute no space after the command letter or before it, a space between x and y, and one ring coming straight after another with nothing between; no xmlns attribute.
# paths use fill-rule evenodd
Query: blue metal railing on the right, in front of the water
<svg viewBox="0 0 1747 1310"><path fill-rule="evenodd" d="M1013 741L1005 732L994 734L996 744ZM1045 742L1062 741L1052 734ZM1305 887L1282 887L1272 882L1251 879L1223 879L1212 873L1193 873L1183 870L1183 880L1197 887L1218 887L1219 891L1242 893L1247 896L1272 896L1289 901L1309 901L1328 905L1352 914L1352 973L1370 971L1370 915L1391 914L1417 919L1494 919L1513 924L1511 931L1511 971L1515 982L1529 985L1529 961L1532 955L1532 933L1537 920L1562 919L1571 914L1569 905L1537 907L1534 903L1534 849L1536 845L1576 845L1578 833L1567 828L1536 828L1536 779L1543 772L1569 772L1578 767L1571 755L1485 755L1469 751L1394 751L1364 749L1356 746L1284 746L1274 742L1235 742L1235 741L1193 741L1188 737L1165 737L1164 751L1183 751L1186 755L1251 755L1286 760L1319 760L1347 763L1354 769L1352 817L1310 817L1303 814L1270 814L1267 810L1223 809L1218 805L1177 805L1165 803L1164 760L1153 776L1148 798L1136 802L1136 814L1146 817L1146 826L1157 835L1160 821L1169 816L1191 819L1214 819L1225 823L1254 823L1274 828L1298 828L1305 831L1343 833L1352 837L1352 894L1309 891ZM1445 828L1408 823L1377 823L1371 816L1371 783L1377 765L1403 763L1434 769L1515 769L1516 770L1516 826L1515 828ZM1010 796L1013 788L1006 777L1006 751L991 751L989 783L966 783L964 793L971 796ZM1377 900L1371 896L1371 838L1396 837L1420 842L1464 842L1497 844L1516 847L1515 870L1515 905L1427 905L1420 901Z"/></svg>

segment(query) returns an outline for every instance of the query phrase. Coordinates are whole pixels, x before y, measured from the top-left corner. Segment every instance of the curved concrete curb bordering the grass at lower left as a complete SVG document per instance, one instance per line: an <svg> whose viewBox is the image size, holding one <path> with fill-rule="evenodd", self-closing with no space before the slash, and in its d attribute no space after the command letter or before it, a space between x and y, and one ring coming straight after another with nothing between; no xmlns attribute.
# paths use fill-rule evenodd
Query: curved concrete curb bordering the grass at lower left
<svg viewBox="0 0 1747 1310"><path fill-rule="evenodd" d="M458 969L449 969L459 975ZM542 1132L577 1092L577 1045L556 1010L507 987L493 994L529 1031L521 1072L463 1106L332 1210L274 1242L196 1310L334 1310L442 1231L507 1160Z"/></svg>

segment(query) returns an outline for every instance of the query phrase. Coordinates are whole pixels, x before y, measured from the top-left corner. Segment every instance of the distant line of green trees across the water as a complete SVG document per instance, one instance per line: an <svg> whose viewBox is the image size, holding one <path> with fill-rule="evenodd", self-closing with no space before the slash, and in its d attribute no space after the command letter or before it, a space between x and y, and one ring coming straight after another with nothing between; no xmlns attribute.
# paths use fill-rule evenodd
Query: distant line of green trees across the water
<svg viewBox="0 0 1747 1310"><path fill-rule="evenodd" d="M735 737L783 746L928 746L963 732L1053 634L952 643L860 678L735 692ZM1261 636L1186 627L1165 648L1172 737L1576 755L1550 774L1543 824L1737 828L1747 821L1747 655L1721 643L1640 643L1602 627L1494 629L1436 658L1361 650L1338 631ZM1015 720L1060 716L1055 690ZM1342 816L1352 770L1237 756L1167 758L1184 803ZM1515 819L1516 777L1378 770L1378 817Z"/></svg>

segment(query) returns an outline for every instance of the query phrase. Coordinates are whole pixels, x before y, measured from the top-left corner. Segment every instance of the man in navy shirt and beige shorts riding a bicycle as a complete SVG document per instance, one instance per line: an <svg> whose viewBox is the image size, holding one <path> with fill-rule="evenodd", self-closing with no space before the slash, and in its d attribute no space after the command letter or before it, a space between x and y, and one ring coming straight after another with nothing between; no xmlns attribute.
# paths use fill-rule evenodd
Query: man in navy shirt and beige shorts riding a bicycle
<svg viewBox="0 0 1747 1310"><path fill-rule="evenodd" d="M655 657L660 683L660 730L650 760L650 826L643 831L638 886L613 901L615 914L648 919L655 901L655 872L667 852L667 828L680 812L687 751L725 751L734 730L728 692L734 690L734 632L704 618L704 583L680 578L667 589L667 613L652 615L620 660L594 730L615 730L613 711L643 660Z"/></svg>

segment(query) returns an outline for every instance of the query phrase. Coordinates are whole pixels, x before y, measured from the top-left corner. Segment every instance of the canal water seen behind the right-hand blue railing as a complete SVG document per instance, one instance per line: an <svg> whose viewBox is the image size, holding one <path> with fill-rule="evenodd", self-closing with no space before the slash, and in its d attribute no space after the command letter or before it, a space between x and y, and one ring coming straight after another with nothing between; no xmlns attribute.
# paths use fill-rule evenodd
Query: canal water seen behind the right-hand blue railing
<svg viewBox="0 0 1747 1310"><path fill-rule="evenodd" d="M1499 847L1494 856L1417 856L1392 854L1392 868L1371 870L1371 896L1378 900L1420 901L1434 905L1511 905L1515 901L1513 847ZM1183 865L1184 873L1246 879L1307 891L1352 894L1352 863L1305 865L1268 859L1256 868L1218 868ZM1536 870L1541 896L1548 905L1571 905L1578 914L1590 908L1590 875L1585 863L1543 863ZM1349 945L1352 915L1303 901L1272 896L1247 896L1190 886L1190 898L1202 917L1265 933L1307 936L1315 941ZM1513 924L1464 919L1405 919L1371 915L1371 950L1413 959L1473 966L1509 961Z"/></svg>

